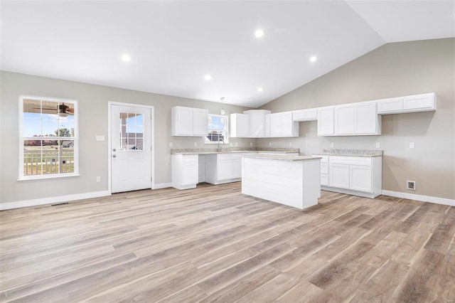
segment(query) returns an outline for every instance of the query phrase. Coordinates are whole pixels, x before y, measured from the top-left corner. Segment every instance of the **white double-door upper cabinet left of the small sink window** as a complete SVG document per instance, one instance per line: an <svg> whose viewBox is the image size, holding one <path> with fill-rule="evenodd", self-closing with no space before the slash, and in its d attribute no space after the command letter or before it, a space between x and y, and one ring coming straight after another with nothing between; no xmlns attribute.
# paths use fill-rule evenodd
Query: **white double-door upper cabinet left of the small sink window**
<svg viewBox="0 0 455 303"><path fill-rule="evenodd" d="M208 132L208 110L193 107L172 107L173 136L205 137Z"/></svg>

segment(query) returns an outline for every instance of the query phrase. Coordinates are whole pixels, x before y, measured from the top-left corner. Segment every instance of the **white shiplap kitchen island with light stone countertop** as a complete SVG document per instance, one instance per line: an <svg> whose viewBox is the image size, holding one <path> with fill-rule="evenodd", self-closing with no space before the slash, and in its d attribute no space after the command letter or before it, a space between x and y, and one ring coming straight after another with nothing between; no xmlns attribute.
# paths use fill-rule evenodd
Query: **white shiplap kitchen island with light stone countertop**
<svg viewBox="0 0 455 303"><path fill-rule="evenodd" d="M319 156L242 154L242 193L299 209L321 197Z"/></svg>

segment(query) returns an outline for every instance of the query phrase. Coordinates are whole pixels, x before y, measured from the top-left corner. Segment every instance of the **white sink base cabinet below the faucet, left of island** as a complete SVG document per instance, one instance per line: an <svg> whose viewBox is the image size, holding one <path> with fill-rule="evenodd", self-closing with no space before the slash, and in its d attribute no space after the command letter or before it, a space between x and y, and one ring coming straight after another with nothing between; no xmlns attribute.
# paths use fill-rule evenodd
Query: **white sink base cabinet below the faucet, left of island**
<svg viewBox="0 0 455 303"><path fill-rule="evenodd" d="M205 156L205 182L217 185L241 180L242 158L232 154Z"/></svg>

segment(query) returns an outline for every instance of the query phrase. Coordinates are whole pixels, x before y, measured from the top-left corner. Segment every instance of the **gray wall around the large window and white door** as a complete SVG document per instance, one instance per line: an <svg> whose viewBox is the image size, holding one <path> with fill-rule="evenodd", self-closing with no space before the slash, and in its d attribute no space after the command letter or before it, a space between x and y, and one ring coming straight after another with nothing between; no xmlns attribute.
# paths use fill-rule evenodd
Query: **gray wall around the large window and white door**
<svg viewBox="0 0 455 303"><path fill-rule="evenodd" d="M1 72L0 106L0 202L26 201L52 196L107 191L107 103L127 102L154 106L155 112L155 184L171 182L172 148L215 147L204 144L203 138L171 137L171 107L176 105L207 108L219 114L222 105L215 102L190 100L181 97L157 95L148 92L123 90L100 85L75 83L65 80L36 77L18 73ZM60 97L79 102L80 176L60 179L17 181L18 179L18 97L32 95ZM242 112L247 107L224 105L226 114ZM105 142L96 142L95 135L105 135ZM254 140L232 138L230 143L238 147L250 147ZM101 182L96 183L96 176Z"/></svg>

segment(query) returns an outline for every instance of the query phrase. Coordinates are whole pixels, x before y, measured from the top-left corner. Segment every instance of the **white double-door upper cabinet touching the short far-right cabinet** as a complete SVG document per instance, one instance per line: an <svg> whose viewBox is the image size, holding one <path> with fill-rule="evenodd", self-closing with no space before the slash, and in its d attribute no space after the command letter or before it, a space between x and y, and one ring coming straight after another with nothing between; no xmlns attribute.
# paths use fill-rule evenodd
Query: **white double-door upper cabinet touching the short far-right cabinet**
<svg viewBox="0 0 455 303"><path fill-rule="evenodd" d="M336 136L381 134L381 119L374 101L336 105L333 116Z"/></svg>

